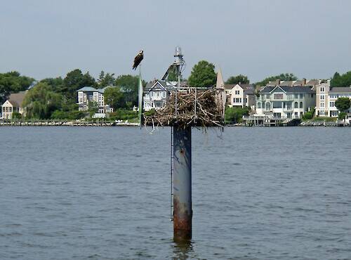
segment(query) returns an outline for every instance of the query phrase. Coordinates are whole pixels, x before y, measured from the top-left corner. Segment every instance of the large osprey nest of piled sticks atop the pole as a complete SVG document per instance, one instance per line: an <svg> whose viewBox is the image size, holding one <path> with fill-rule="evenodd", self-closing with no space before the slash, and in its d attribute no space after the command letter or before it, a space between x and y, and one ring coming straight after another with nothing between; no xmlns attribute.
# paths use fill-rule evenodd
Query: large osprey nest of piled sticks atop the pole
<svg viewBox="0 0 351 260"><path fill-rule="evenodd" d="M223 90L224 91L224 90ZM145 126L223 126L220 89L178 89L171 91L166 105L143 113Z"/></svg>

